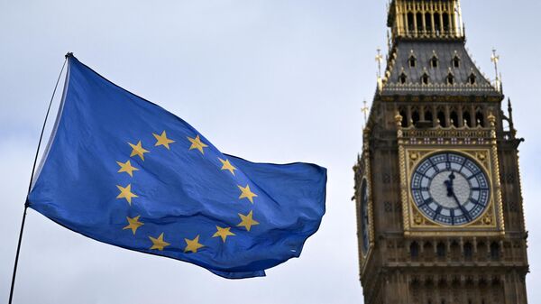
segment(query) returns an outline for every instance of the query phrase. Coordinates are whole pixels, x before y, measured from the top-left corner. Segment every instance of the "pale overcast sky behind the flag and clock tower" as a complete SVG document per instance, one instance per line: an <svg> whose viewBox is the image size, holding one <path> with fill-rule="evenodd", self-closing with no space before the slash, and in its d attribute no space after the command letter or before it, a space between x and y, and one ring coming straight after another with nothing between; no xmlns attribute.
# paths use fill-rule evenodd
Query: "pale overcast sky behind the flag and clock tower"
<svg viewBox="0 0 541 304"><path fill-rule="evenodd" d="M376 87L375 50L386 51L385 5L1 0L0 301L8 296L42 118L63 56L73 51L188 121L222 152L325 166L327 213L299 259L266 278L227 281L189 263L98 243L29 210L14 303L362 303L352 166L362 146L362 100ZM538 1L463 2L467 46L491 78L491 49L498 49L504 93L526 138L520 169L531 303L541 302L539 11Z"/></svg>

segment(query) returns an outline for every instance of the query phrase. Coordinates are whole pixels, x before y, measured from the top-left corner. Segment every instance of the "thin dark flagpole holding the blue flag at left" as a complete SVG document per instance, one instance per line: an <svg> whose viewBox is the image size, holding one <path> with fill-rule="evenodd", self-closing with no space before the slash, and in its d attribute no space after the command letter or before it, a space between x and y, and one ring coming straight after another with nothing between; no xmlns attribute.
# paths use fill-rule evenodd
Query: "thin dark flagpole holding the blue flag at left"
<svg viewBox="0 0 541 304"><path fill-rule="evenodd" d="M32 166L32 173L30 175L30 183L28 184L28 194L30 194L30 190L32 189L32 180L33 175L36 170L36 163L38 162L38 155L40 153L40 147L41 147L41 140L43 139L43 133L45 132L45 125L47 125L47 119L49 118L50 113L50 106L52 106L52 101L54 99L54 95L56 93L57 88L59 87L60 77L62 76L62 72L64 71L64 67L66 67L66 62L68 62L69 57L73 56L73 53L69 52L66 54L64 60L64 64L62 64L62 69L60 69L59 78L57 79L56 85L54 86L54 90L52 91L52 96L50 97L49 107L47 108L47 114L45 114L45 119L43 121L43 126L41 127L41 134L40 134L40 141L38 142L38 148L36 149L36 155L34 157L34 162ZM17 244L17 253L15 254L15 263L14 263L14 275L12 277L12 284L11 284L11 290L9 291L9 302L8 304L12 304L12 300L14 299L14 287L15 287L15 277L17 276L17 264L19 263L19 253L21 252L21 243L23 242L23 231L24 231L24 222L26 221L26 211L28 209L28 200L24 203L24 210L23 210L23 221L21 223L21 232L19 232L19 243Z"/></svg>

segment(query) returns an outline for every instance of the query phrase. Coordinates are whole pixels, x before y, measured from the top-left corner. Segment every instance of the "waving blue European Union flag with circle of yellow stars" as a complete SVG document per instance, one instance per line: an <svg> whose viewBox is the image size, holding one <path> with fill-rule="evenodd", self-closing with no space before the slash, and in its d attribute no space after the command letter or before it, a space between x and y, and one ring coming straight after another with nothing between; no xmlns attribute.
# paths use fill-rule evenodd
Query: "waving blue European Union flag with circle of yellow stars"
<svg viewBox="0 0 541 304"><path fill-rule="evenodd" d="M225 278L265 275L319 227L325 168L224 154L72 56L66 81L27 199L61 226Z"/></svg>

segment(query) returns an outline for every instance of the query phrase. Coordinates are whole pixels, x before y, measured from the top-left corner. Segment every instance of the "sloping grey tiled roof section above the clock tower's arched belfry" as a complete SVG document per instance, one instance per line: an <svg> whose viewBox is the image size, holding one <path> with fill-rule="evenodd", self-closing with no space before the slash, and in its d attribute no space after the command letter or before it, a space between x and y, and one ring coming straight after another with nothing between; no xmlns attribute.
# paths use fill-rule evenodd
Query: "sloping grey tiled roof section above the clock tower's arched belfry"
<svg viewBox="0 0 541 304"><path fill-rule="evenodd" d="M396 41L381 95L500 97L465 49L464 41Z"/></svg>

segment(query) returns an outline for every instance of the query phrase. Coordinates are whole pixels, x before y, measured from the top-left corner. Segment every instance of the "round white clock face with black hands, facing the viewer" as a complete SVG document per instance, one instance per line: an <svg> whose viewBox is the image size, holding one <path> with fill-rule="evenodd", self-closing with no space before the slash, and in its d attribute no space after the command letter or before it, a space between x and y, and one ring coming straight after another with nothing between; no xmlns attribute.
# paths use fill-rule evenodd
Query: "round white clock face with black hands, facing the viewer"
<svg viewBox="0 0 541 304"><path fill-rule="evenodd" d="M411 193L426 217L439 224L459 226L481 216L491 190L477 162L462 154L441 152L417 165L411 177Z"/></svg>

